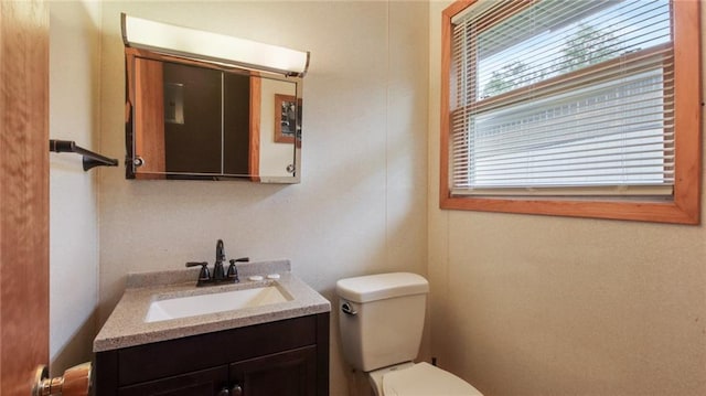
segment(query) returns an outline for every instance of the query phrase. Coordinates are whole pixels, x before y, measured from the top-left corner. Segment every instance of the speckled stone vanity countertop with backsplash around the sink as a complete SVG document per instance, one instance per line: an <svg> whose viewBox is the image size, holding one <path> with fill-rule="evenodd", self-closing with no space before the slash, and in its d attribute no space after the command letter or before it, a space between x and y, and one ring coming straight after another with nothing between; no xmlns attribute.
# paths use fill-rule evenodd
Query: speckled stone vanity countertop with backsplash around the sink
<svg viewBox="0 0 706 396"><path fill-rule="evenodd" d="M129 274L127 288L93 342L94 352L117 350L189 335L243 328L277 320L330 312L331 303L291 274L289 260L238 263L239 283L196 288L199 268ZM254 275L279 274L276 280L248 280ZM279 285L292 299L261 307L146 323L153 300Z"/></svg>

